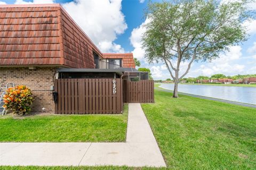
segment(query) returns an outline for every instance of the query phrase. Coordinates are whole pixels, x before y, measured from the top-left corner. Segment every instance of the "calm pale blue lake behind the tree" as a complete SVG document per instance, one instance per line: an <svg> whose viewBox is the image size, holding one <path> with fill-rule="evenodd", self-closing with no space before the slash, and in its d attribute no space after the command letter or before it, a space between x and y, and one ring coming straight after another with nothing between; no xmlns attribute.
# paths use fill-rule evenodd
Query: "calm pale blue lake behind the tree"
<svg viewBox="0 0 256 170"><path fill-rule="evenodd" d="M161 84L164 89L173 90L174 84ZM179 84L179 92L187 94L213 97L231 101L238 101L248 104L256 104L256 88L254 87L234 87L234 86L207 86Z"/></svg>

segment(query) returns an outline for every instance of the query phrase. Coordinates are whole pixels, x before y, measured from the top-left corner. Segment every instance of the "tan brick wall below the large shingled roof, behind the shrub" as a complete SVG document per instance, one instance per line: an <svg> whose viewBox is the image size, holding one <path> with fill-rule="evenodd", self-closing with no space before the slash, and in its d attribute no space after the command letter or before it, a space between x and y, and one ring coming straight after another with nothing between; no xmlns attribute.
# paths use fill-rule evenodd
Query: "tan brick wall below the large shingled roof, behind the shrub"
<svg viewBox="0 0 256 170"><path fill-rule="evenodd" d="M0 67L0 87L5 87L7 82L24 84L33 90L35 100L31 113L54 113L50 87L53 86L55 70L55 67L36 67L35 70L29 70L28 67Z"/></svg>

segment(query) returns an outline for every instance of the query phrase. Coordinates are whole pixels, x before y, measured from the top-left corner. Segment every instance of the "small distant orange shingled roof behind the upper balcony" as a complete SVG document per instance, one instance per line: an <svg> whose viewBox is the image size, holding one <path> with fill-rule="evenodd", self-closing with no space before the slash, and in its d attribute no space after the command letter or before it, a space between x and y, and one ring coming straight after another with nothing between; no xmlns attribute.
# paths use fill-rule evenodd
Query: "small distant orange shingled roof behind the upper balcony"
<svg viewBox="0 0 256 170"><path fill-rule="evenodd" d="M135 68L135 62L133 60L132 53L103 53L103 58L122 58L122 67Z"/></svg>

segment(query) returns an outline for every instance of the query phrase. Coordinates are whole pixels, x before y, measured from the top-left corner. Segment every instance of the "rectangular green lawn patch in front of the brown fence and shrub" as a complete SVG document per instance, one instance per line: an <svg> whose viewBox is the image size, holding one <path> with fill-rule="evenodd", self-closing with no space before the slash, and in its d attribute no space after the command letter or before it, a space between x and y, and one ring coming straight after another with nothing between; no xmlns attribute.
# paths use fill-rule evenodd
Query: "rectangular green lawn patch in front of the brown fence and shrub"
<svg viewBox="0 0 256 170"><path fill-rule="evenodd" d="M128 106L117 115L0 117L0 142L123 142Z"/></svg>

